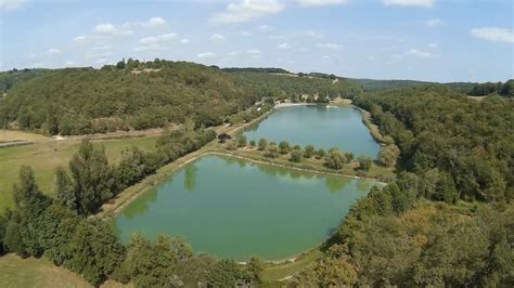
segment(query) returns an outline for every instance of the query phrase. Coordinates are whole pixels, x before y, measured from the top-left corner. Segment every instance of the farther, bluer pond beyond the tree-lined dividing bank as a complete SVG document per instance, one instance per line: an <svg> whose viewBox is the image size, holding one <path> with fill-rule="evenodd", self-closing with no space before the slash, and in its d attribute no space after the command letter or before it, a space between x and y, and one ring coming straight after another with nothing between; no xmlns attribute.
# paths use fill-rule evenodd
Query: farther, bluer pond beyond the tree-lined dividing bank
<svg viewBox="0 0 514 288"><path fill-rule="evenodd" d="M349 107L295 106L279 108L268 118L244 132L248 140L286 140L303 147L338 147L356 157L376 158L380 145L362 122L360 112Z"/></svg>

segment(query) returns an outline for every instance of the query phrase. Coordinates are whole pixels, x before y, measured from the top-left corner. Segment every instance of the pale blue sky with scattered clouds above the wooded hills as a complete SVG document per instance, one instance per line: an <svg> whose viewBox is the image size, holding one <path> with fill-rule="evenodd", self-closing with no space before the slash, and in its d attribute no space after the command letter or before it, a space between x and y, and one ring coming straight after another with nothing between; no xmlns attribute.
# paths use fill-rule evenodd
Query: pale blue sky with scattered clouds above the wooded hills
<svg viewBox="0 0 514 288"><path fill-rule="evenodd" d="M514 78L511 0L0 0L0 70L121 57L431 81Z"/></svg>

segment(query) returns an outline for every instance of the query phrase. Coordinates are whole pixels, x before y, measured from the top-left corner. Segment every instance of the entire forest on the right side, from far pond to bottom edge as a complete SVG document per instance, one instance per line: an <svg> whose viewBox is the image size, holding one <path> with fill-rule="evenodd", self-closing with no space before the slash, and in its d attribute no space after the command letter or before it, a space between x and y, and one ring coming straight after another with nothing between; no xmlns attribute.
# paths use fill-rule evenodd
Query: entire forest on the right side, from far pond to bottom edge
<svg viewBox="0 0 514 288"><path fill-rule="evenodd" d="M400 147L398 178L358 201L291 284L512 287L512 100L437 86L355 102Z"/></svg>

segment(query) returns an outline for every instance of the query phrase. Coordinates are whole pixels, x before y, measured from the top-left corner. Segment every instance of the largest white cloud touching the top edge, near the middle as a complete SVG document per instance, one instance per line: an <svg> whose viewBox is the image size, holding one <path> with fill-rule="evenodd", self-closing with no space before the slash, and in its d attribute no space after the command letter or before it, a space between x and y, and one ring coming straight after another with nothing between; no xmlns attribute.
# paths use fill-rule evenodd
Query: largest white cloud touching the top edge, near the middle
<svg viewBox="0 0 514 288"><path fill-rule="evenodd" d="M280 13L284 4L279 0L240 0L230 3L224 12L215 14L210 21L216 24L244 23Z"/></svg>

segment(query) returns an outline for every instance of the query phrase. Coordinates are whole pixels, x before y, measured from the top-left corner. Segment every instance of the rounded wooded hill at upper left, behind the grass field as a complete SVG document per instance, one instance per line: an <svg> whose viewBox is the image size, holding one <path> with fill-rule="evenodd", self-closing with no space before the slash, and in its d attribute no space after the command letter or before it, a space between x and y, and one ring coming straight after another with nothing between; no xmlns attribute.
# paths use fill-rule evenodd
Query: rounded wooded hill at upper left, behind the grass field
<svg viewBox="0 0 514 288"><path fill-rule="evenodd" d="M349 86L266 73L224 73L184 62L129 60L102 69L51 70L23 81L0 101L0 126L64 135L160 128L185 118L208 127L267 96L335 97Z"/></svg>

